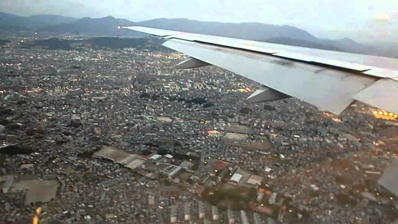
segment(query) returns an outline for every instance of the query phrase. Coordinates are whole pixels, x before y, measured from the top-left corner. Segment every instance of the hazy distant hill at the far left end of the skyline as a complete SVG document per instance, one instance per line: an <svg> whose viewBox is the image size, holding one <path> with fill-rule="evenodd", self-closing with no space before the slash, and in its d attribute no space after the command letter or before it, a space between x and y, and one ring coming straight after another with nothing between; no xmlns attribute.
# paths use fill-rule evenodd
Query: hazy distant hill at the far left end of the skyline
<svg viewBox="0 0 398 224"><path fill-rule="evenodd" d="M0 29L3 30L34 30L43 26L64 24L76 21L76 18L57 15L16 16L0 12Z"/></svg>

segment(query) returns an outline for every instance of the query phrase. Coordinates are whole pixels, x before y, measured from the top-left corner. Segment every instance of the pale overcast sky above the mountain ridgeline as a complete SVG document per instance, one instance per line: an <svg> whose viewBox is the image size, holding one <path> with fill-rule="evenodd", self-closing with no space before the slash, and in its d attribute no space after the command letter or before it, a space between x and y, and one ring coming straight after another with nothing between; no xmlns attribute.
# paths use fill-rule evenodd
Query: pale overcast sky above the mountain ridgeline
<svg viewBox="0 0 398 224"><path fill-rule="evenodd" d="M0 11L113 16L134 22L155 18L261 22L296 26L321 38L398 39L398 0L0 0Z"/></svg>

